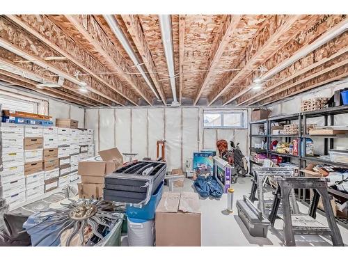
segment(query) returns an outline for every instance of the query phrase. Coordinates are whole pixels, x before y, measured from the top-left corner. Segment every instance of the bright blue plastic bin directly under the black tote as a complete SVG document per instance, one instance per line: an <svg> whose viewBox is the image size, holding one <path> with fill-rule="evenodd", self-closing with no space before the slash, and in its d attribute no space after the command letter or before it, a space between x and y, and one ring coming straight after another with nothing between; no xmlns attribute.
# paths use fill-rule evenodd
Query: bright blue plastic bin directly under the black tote
<svg viewBox="0 0 348 261"><path fill-rule="evenodd" d="M127 216L134 219L155 219L155 210L159 200L161 200L163 186L164 182L162 181L155 193L152 194L148 204L143 205L143 207L134 207L129 205L126 210Z"/></svg>

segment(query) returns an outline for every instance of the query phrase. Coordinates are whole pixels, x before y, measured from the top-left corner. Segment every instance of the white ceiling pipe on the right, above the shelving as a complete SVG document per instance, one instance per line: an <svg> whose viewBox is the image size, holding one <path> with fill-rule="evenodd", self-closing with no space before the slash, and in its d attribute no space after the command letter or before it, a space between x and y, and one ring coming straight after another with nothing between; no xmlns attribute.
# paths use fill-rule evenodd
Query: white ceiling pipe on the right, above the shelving
<svg viewBox="0 0 348 261"><path fill-rule="evenodd" d="M348 29L348 20L343 22L341 26L339 26L337 29L330 33L324 33L319 39L317 39L315 42L313 42L311 45L308 45L305 49L302 49L300 52L297 52L290 58L287 58L283 63L280 63L280 65L276 66L275 68L269 70L266 74L264 74L262 77L260 77L261 81L267 81L269 78L274 77L278 72L284 70L288 66L292 65L296 61L299 61L302 57L310 54L315 49L318 49L322 45L325 45L326 42L329 42L333 40L333 38L337 37L338 35L345 33Z"/></svg>

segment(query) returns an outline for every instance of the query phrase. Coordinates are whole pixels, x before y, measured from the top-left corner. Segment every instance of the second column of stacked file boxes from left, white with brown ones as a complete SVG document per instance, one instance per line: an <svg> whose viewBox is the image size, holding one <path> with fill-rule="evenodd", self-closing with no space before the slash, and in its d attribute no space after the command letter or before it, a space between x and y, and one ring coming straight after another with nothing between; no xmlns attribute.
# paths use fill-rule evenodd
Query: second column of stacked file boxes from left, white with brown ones
<svg viewBox="0 0 348 261"><path fill-rule="evenodd" d="M40 126L24 127L24 175L26 198L31 199L45 193L43 159L43 129Z"/></svg>

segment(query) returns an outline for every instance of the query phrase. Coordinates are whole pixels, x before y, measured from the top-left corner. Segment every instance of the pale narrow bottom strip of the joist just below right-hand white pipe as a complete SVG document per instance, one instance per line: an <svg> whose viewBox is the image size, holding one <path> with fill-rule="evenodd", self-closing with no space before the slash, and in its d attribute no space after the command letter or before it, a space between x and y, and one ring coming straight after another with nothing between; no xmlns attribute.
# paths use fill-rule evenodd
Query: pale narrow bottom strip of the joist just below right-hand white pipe
<svg viewBox="0 0 348 261"><path fill-rule="evenodd" d="M299 77L302 74L305 74L306 72L309 72L310 70L313 70L313 69L319 67L320 65L323 65L324 63L327 63L327 62L333 60L334 58L337 58L338 56L345 54L347 52L348 52L348 46L343 48L343 49L340 49L338 52L336 52L335 54L333 54L329 57L320 58L319 61L312 63L311 65L307 66L306 68L303 68L302 70L297 70L297 71L293 72L292 74L290 74L289 77L286 77L285 79L280 78L281 80L276 81L276 84L273 84L269 87L266 86L266 88L264 88L264 90L262 90L262 93L252 93L251 95L248 96L248 98L241 97L241 99L238 100L237 105L242 105L242 104L246 104L246 103L247 103L247 105L251 105L251 104L255 104L256 102L260 102L261 100L273 95L274 94L273 91L276 90L276 88L278 88L279 86L282 86L283 84L287 83L288 81L291 81L292 79ZM325 66L323 69L325 69ZM322 70L322 69L320 69L320 70ZM269 95L269 92L271 92L270 95Z"/></svg>

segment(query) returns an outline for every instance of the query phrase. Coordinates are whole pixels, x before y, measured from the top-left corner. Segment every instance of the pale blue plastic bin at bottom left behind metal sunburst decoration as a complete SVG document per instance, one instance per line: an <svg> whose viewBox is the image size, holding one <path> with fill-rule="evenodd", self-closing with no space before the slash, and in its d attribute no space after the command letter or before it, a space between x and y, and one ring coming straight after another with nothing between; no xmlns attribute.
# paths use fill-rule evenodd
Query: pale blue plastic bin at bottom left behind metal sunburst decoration
<svg viewBox="0 0 348 261"><path fill-rule="evenodd" d="M45 219L45 214L41 214L39 212L29 216L28 220L23 224L23 228L30 235L31 245L36 246L36 244L38 244L39 240L42 239L42 237L49 235L44 240L42 240L42 242L40 242L38 246L58 246L59 244L61 244L61 239L58 237L58 239L54 241L54 239L58 235L58 232L60 231L57 230L58 226L38 225L38 223L40 223L43 219ZM35 226L35 228L33 228L33 226Z"/></svg>

